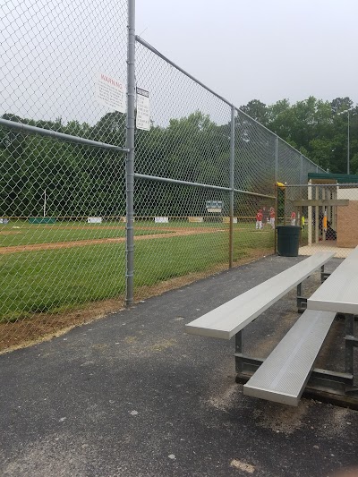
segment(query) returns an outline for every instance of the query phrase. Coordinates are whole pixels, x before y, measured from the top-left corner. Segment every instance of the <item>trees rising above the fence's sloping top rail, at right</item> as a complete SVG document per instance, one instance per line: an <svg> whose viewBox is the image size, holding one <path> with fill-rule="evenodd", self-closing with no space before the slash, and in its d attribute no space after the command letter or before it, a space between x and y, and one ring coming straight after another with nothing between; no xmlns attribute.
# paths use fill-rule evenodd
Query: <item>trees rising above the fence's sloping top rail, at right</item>
<svg viewBox="0 0 358 477"><path fill-rule="evenodd" d="M347 172L350 110L350 173L358 174L358 106L350 98L323 101L311 96L293 105L288 99L265 105L252 99L241 109L331 173Z"/></svg>

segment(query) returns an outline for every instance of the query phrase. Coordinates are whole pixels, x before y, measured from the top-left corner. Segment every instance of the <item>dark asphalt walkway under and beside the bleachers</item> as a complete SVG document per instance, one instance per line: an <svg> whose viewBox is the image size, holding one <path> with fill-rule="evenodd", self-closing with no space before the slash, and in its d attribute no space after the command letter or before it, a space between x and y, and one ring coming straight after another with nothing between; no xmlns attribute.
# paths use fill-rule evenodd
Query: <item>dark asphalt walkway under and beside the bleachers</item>
<svg viewBox="0 0 358 477"><path fill-rule="evenodd" d="M243 396L233 340L184 333L297 260L267 257L0 356L0 475L326 477L358 464L357 412ZM291 293L245 328L245 351L268 355L294 304ZM342 326L320 356L338 371Z"/></svg>

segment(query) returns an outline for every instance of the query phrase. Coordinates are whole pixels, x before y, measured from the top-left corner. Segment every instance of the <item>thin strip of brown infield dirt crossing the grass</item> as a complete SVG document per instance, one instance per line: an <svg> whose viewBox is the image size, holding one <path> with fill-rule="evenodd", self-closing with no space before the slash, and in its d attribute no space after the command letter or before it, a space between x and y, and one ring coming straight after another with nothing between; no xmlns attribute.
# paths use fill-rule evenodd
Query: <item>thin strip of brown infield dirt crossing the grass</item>
<svg viewBox="0 0 358 477"><path fill-rule="evenodd" d="M86 227L83 227L83 228L86 228ZM146 230L147 227L138 227L138 228L141 228L142 230ZM148 228L150 229L150 227ZM223 228L195 228L195 229L185 229L185 228L167 229L166 228L162 230L163 232L165 231L168 233L137 235L134 237L134 241L150 240L150 239L157 239L157 238L170 238L170 237L184 236L184 235L214 234L217 232L226 232L226 229L223 229ZM84 246L99 245L104 243L123 243L123 242L125 242L125 237L74 240L72 242L30 243L29 245L13 245L10 247L0 247L0 255L5 255L8 253L18 253L21 251L45 251L45 250L56 250L56 249L71 249L72 247L84 247Z"/></svg>

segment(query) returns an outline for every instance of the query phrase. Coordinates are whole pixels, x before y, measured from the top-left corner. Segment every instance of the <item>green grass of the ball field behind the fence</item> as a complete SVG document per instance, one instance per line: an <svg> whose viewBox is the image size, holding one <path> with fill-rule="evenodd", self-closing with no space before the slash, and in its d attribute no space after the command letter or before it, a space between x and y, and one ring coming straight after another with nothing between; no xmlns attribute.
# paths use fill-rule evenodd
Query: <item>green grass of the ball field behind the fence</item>
<svg viewBox="0 0 358 477"><path fill-rule="evenodd" d="M178 227L178 225L180 226ZM75 224L76 225L76 224ZM124 236L124 224L115 229L81 224L80 229L61 226L21 225L23 234L2 234L2 246L61 242L64 239L92 240ZM135 285L155 285L173 277L209 271L228 262L228 226L183 222L155 225L135 224L136 234L163 234L163 238L135 243ZM141 226L145 227L141 230ZM166 229L177 226L178 236L166 237ZM46 228L45 228L46 227ZM203 234L203 230L213 229ZM198 234L181 231L198 229ZM3 229L4 230L4 229ZM219 230L217 232L217 230ZM145 239L145 237L143 237ZM15 242L13 242L15 240ZM274 234L269 227L256 231L254 224L234 226L234 261L253 260L273 250ZM6 244L6 245L4 245ZM83 247L21 251L0 256L0 321L13 321L37 312L59 312L83 303L115 298L125 290L125 243L90 244Z"/></svg>

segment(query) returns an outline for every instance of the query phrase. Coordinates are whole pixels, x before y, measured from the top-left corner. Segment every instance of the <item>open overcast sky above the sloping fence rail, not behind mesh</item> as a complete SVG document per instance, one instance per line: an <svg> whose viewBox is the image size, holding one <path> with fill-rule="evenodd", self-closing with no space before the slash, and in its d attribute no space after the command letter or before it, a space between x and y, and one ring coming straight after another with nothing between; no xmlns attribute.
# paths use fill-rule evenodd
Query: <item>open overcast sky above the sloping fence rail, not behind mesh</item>
<svg viewBox="0 0 358 477"><path fill-rule="evenodd" d="M358 103L357 0L137 0L136 31L235 106Z"/></svg>

